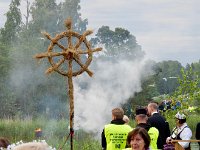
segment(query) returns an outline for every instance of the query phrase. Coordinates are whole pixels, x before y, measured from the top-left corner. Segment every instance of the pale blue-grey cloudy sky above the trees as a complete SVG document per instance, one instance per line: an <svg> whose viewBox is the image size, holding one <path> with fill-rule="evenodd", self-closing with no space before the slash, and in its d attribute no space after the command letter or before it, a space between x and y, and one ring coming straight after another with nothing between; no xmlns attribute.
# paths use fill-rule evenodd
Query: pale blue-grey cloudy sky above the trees
<svg viewBox="0 0 200 150"><path fill-rule="evenodd" d="M9 3L0 0L0 27ZM183 65L200 59L199 0L81 0L80 5L89 29L125 28L148 58L178 60Z"/></svg>

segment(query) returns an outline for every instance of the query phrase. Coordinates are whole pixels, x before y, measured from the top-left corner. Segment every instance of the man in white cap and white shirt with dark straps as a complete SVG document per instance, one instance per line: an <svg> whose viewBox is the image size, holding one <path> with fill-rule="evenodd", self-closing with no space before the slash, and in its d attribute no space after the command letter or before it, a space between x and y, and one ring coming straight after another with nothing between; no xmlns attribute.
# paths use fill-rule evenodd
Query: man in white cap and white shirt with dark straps
<svg viewBox="0 0 200 150"><path fill-rule="evenodd" d="M172 131L172 135L167 138L166 142L171 143L172 139L175 140L190 140L192 137L192 131L186 123L186 116L183 113L177 113L175 115L176 127ZM190 142L178 142L185 150L190 149Z"/></svg>

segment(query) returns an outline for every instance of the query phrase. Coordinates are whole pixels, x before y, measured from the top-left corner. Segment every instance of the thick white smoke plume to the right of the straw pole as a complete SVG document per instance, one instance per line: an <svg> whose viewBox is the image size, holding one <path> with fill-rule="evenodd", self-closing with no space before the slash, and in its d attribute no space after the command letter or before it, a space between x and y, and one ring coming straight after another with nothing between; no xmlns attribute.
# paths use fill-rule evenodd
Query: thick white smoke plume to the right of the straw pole
<svg viewBox="0 0 200 150"><path fill-rule="evenodd" d="M91 67L92 78L84 74L75 79L75 126L99 134L111 121L111 110L141 91L144 66L145 61L98 61ZM83 82L87 86L81 88Z"/></svg>

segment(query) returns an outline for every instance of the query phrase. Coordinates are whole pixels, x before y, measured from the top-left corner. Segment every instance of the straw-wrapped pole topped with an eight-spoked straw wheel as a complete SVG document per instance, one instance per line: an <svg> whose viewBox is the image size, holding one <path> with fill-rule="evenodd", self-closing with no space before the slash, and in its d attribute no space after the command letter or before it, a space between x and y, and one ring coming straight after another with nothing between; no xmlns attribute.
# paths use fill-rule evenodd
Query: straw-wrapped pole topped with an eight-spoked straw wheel
<svg viewBox="0 0 200 150"><path fill-rule="evenodd" d="M48 58L49 63L51 64L51 67L49 67L46 70L47 74L52 73L53 71L58 72L59 74L63 76L68 77L68 95L69 95L69 101L70 101L70 138L71 138L71 150L73 150L73 136L74 136L74 87L73 87L73 76L80 75L84 71L88 73L89 76L92 76L92 72L88 69L88 66L90 65L92 61L92 53L101 51L102 48L96 48L92 49L90 43L87 41L86 36L92 34L92 31L87 30L83 33L83 35L72 31L72 22L71 19L67 19L65 21L65 25L67 27L67 31L62 32L60 34L57 34L54 38L52 38L48 33L44 32L43 34L51 41L47 52L37 54L35 58L41 59L41 58ZM74 45L72 42L72 37L75 37L78 41ZM59 42L59 40L67 38L68 46L65 47ZM81 49L81 44L85 45L86 49ZM58 46L62 51L60 52L54 52L54 46ZM86 55L87 60L85 63L81 62L81 55ZM55 61L53 57L60 58L59 61ZM84 57L85 58L85 57ZM57 60L57 59L56 59ZM64 62L68 62L67 68L62 68ZM80 65L80 69L74 70L73 72L73 64L72 62L75 61L78 65ZM67 71L65 71L67 69ZM68 136L69 137L69 136Z"/></svg>

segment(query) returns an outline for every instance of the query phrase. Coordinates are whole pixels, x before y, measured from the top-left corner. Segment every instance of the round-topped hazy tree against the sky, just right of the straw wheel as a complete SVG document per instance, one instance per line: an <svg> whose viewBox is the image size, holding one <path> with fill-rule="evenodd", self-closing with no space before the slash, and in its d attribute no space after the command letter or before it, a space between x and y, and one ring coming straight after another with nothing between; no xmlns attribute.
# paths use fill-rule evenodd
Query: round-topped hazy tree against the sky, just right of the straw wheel
<svg viewBox="0 0 200 150"><path fill-rule="evenodd" d="M103 45L106 49L105 55L108 57L140 60L144 56L135 36L123 28L115 28L115 31L112 31L108 26L102 26L91 42L95 45Z"/></svg>

